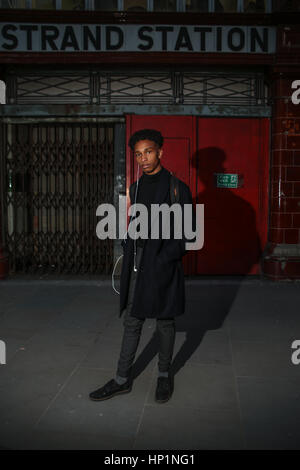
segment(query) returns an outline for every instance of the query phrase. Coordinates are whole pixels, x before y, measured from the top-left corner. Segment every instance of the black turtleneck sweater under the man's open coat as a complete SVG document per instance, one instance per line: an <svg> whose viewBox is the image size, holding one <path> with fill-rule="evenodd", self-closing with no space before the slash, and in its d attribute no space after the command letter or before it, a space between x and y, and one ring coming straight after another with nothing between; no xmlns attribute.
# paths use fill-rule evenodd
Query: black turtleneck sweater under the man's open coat
<svg viewBox="0 0 300 470"><path fill-rule="evenodd" d="M166 171L163 167L154 175L147 175L143 173L139 181L137 202L139 204L144 204L148 209L148 228L150 228L151 223L151 204L153 204L155 199L155 194L157 193L158 184L161 178L162 173ZM138 238L137 246L144 246L145 240Z"/></svg>

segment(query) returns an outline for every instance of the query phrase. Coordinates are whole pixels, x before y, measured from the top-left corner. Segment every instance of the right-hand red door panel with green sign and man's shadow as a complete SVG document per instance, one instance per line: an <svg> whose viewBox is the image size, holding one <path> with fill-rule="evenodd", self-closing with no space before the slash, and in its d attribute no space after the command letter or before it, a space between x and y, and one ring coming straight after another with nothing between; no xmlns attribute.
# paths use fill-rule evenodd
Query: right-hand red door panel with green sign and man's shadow
<svg viewBox="0 0 300 470"><path fill-rule="evenodd" d="M257 274L267 241L269 120L199 118L198 202L204 204L204 247L197 274ZM238 174L236 189L217 187L217 174Z"/></svg>

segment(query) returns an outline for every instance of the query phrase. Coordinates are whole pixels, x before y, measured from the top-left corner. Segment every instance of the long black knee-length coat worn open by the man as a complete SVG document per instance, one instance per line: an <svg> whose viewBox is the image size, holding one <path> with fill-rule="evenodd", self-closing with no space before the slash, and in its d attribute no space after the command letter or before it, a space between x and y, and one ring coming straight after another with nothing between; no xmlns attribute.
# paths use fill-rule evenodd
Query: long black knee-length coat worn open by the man
<svg viewBox="0 0 300 470"><path fill-rule="evenodd" d="M170 172L162 175L153 204L170 204ZM135 200L136 182L130 186L130 201ZM192 204L190 188L179 180L179 204ZM171 229L172 230L172 229ZM134 241L123 240L123 264L120 279L120 315L127 305L130 273L133 269ZM185 310L185 286L182 257L186 253L182 239L146 239L137 272L131 315L137 318L173 318Z"/></svg>

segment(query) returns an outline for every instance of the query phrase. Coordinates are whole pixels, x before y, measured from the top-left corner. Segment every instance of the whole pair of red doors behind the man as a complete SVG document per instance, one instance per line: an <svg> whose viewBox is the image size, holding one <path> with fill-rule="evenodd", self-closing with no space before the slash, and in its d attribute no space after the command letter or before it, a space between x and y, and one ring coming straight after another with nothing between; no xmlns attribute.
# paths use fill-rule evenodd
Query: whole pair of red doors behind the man
<svg viewBox="0 0 300 470"><path fill-rule="evenodd" d="M143 128L165 138L162 165L204 204L204 246L185 256L186 274L257 274L267 241L269 120L127 116L127 142ZM127 196L137 166L127 146ZM217 174L237 174L243 184L217 187Z"/></svg>

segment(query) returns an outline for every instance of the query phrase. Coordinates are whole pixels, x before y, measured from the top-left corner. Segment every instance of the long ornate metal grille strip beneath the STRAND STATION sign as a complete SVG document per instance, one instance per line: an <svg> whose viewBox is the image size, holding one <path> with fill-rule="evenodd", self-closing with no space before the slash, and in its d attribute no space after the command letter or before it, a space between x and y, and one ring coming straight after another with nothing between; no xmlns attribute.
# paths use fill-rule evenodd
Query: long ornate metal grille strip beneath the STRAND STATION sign
<svg viewBox="0 0 300 470"><path fill-rule="evenodd" d="M7 77L7 104L268 104L263 73L39 72Z"/></svg>

